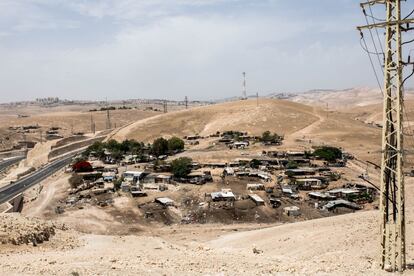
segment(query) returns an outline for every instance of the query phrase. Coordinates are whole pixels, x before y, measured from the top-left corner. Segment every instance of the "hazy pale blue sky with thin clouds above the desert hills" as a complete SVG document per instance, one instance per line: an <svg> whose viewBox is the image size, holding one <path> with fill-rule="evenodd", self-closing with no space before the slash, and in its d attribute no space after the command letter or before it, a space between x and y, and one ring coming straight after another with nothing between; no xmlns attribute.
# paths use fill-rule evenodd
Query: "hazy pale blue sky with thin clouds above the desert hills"
<svg viewBox="0 0 414 276"><path fill-rule="evenodd" d="M374 87L358 2L0 0L0 101Z"/></svg>

